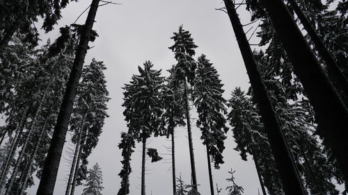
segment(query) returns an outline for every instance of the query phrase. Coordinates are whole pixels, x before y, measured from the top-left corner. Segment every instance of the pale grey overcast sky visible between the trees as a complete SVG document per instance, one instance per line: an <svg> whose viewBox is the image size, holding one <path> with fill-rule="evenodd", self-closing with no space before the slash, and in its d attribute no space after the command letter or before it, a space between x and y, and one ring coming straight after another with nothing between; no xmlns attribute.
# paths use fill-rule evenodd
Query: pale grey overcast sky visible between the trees
<svg viewBox="0 0 348 195"><path fill-rule="evenodd" d="M54 40L58 37L58 28L72 24L90 2L91 0L71 2L63 10L63 19L54 32L42 34L42 40L47 40L47 37ZM120 188L118 173L122 158L118 143L120 133L127 131L125 117L122 115L121 87L129 83L132 74L138 74L137 67L143 65L145 60L152 61L155 69L162 69L163 75L168 76L166 70L176 63L173 53L168 49L168 46L173 44L170 37L181 24L185 30L191 32L194 42L198 45L195 58L205 53L214 63L222 83L225 84L223 89L226 91L223 95L226 99L230 98L230 93L235 87L241 86L242 90L248 88L246 69L228 16L224 12L215 10L215 8L223 7L221 0L123 0L118 3L122 5L107 5L98 9L94 29L100 37L90 43L90 46L94 47L86 56L86 63L89 63L92 58L104 61L107 67L105 71L107 87L111 97L108 103L110 117L105 121L97 147L88 158L88 168L91 168L95 162L98 162L102 168L104 195L117 194ZM242 7L238 11L242 21L248 22L250 19L248 12ZM86 14L77 23L84 24L84 19ZM255 44L257 41L251 40L251 43ZM191 112L195 117L194 110ZM200 140L200 130L196 128L195 120L192 126L197 180L200 185L198 190L200 194L208 195L210 192L205 146ZM184 181L189 183L191 169L187 130L177 128L175 138L177 176L181 173ZM155 163L151 163L150 160L146 162L148 170L145 178L146 193L149 195L171 194L171 157L168 155L170 152L164 147L171 146L171 142L164 137L149 140L148 147L159 149L164 160ZM65 145L68 146L69 143L70 140ZM245 195L258 194L260 184L253 160L251 158L248 158L247 162L241 160L239 153L234 150L235 142L231 132L228 133L225 146L226 150L223 152L225 164L222 164L219 170L213 169L214 183L218 183L219 187L223 188L221 194L227 194L224 189L228 185L226 178L229 177L228 171L231 168L236 170L236 182L244 187ZM141 144L136 144L135 151L131 162L133 172L130 175L130 194L141 194ZM70 171L66 158L68 155L65 150L54 191L56 195L65 193L66 178ZM35 186L29 189L29 193L35 194L37 186L38 180L35 181ZM75 194L81 194L83 188L77 187Z"/></svg>

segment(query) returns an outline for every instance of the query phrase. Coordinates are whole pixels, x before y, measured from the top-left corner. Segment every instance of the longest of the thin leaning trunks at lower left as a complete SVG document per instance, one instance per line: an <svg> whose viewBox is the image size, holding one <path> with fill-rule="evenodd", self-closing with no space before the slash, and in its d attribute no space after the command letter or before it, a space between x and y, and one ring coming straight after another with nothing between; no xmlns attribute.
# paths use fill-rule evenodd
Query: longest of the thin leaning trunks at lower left
<svg viewBox="0 0 348 195"><path fill-rule="evenodd" d="M19 156L17 158L17 162L15 164L15 168L13 169L13 172L12 172L12 176L10 178L10 182L8 183L8 186L7 186L7 189L6 189L6 193L5 195L9 195L10 192L11 192L11 189L13 187L13 183L15 183L15 179L17 177L17 173L18 173L18 169L19 169L19 166L20 164L22 163L22 159L24 158L24 154L26 153L26 146L28 146L29 144L29 141L31 139L31 136L33 135L33 133L35 132L35 123L38 119L38 115L40 113L40 108L42 106L42 103L43 101L45 100L45 97L46 97L46 93L47 93L47 90L49 90L49 86L51 85L51 80L49 80L49 82L47 83L46 85L46 88L45 88L45 91L43 92L42 96L41 96L41 99L40 99L40 102L38 104L38 108L35 112L35 115L33 117L33 121L31 121L31 126L28 128L27 130L27 135L26 135L26 139L24 141L24 144L22 146L22 149L19 153Z"/></svg>

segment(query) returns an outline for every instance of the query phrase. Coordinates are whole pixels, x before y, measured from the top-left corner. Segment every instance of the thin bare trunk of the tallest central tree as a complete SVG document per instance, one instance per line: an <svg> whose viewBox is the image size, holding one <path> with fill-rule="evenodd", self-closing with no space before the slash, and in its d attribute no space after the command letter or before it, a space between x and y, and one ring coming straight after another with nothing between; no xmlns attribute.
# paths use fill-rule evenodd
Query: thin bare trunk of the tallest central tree
<svg viewBox="0 0 348 195"><path fill-rule="evenodd" d="M193 189L198 191L197 179L196 179L196 167L195 167L195 156L193 153L193 144L192 144L192 133L191 133L191 121L190 121L190 108L189 108L189 94L187 94L187 80L184 80L184 99L186 106L186 120L187 120L187 134L189 135L189 151L190 151L190 162L191 162L191 175L192 175L192 184Z"/></svg>

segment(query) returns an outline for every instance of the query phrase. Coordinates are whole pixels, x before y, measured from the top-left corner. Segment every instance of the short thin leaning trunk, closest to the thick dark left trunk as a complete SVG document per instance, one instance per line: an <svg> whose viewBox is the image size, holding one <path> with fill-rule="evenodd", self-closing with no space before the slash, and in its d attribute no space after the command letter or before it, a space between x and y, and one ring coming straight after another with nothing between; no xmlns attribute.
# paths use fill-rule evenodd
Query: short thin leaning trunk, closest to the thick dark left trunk
<svg viewBox="0 0 348 195"><path fill-rule="evenodd" d="M25 177L24 177L22 186L20 187L19 195L23 195L24 194L24 191L26 189L26 183L28 183L29 177L31 176L31 169L33 167L35 156L38 153L38 149L40 147L40 142L41 142L43 133L45 132L45 128L46 128L48 119L49 119L49 114L47 115L47 117L45 119L45 122L44 122L44 124L43 124L43 126L41 128L41 131L40 131L38 142L35 145L35 149L34 149L33 153L31 154L29 167L26 169Z"/></svg>

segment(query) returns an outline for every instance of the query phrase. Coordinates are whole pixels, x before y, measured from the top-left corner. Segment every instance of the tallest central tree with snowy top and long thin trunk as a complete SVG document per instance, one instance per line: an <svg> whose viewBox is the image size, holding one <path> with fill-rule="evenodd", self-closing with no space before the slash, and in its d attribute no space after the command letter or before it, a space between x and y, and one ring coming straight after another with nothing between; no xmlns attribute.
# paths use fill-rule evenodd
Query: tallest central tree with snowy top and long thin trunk
<svg viewBox="0 0 348 195"><path fill-rule="evenodd" d="M192 56L195 55L196 49L198 46L194 44L193 38L189 31L184 31L182 26L179 27L179 32L174 33L174 36L171 37L174 40L173 46L170 46L174 52L175 59L177 60L177 65L175 65L175 78L177 82L184 84L184 100L185 100L185 116L187 119L187 134L189 137L189 152L190 152L190 162L191 162L191 176L193 189L197 190L197 178L196 178L196 167L193 153L193 144L192 144L192 133L191 133L191 121L189 113L189 87L188 83L193 84L195 77L196 62L193 60Z"/></svg>

